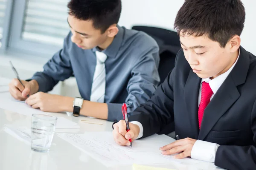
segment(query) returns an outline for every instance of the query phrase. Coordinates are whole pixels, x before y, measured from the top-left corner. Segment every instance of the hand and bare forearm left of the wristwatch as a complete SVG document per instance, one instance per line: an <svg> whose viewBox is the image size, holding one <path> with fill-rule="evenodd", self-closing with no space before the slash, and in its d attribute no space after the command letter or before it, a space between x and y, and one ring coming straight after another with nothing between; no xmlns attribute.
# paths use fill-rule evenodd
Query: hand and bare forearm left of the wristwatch
<svg viewBox="0 0 256 170"><path fill-rule="evenodd" d="M40 108L41 111L45 112L61 112L65 110L65 97L55 94L38 92L29 96L25 102L32 108Z"/></svg>

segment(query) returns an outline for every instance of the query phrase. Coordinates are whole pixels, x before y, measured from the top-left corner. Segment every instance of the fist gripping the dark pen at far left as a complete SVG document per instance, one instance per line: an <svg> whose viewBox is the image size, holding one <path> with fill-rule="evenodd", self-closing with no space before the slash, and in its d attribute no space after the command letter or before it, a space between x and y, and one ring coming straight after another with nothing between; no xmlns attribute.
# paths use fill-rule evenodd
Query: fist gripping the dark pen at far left
<svg viewBox="0 0 256 170"><path fill-rule="evenodd" d="M12 79L9 83L9 91L11 95L17 100L27 99L27 95L35 94L38 91L38 82L36 80L31 80L29 82L21 80L23 85L18 79Z"/></svg>

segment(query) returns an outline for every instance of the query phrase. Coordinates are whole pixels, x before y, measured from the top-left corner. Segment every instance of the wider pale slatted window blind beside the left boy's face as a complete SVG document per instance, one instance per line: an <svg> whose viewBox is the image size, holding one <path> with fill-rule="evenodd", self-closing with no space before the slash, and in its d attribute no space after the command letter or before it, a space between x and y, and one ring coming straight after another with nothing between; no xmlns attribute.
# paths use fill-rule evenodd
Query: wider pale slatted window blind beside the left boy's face
<svg viewBox="0 0 256 170"><path fill-rule="evenodd" d="M28 0L21 38L61 46L70 28L67 24L69 0Z"/></svg>

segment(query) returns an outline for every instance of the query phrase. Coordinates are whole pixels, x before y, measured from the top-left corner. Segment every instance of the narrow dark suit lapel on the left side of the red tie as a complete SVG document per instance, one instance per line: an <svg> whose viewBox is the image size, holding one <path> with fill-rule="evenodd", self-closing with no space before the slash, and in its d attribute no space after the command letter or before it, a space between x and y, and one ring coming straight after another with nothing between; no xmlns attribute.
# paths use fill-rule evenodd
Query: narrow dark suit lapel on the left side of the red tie
<svg viewBox="0 0 256 170"><path fill-rule="evenodd" d="M184 96L186 102L187 113L193 132L193 139L198 138L198 93L200 88L201 78L198 77L192 70L189 72L189 77L186 81Z"/></svg>

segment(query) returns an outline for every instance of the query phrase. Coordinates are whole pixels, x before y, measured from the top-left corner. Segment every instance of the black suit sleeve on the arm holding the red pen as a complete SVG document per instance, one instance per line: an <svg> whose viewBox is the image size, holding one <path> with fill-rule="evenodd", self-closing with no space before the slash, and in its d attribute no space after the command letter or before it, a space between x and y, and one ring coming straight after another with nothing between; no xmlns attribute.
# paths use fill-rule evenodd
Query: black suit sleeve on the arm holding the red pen
<svg viewBox="0 0 256 170"><path fill-rule="evenodd" d="M173 82L176 69L174 68L169 73L165 81L154 92L151 99L129 114L129 121L137 121L142 124L143 137L160 132L166 125L174 121Z"/></svg>

